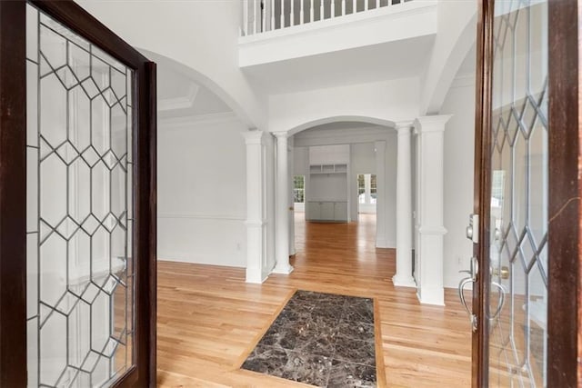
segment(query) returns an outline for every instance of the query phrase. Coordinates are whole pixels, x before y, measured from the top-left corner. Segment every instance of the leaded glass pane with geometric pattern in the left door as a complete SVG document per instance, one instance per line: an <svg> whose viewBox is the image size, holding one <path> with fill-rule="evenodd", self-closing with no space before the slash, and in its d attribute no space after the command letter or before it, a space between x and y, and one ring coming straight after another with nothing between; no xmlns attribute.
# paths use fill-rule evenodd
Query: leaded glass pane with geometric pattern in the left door
<svg viewBox="0 0 582 388"><path fill-rule="evenodd" d="M107 385L134 364L134 73L33 5L26 31L28 384Z"/></svg>

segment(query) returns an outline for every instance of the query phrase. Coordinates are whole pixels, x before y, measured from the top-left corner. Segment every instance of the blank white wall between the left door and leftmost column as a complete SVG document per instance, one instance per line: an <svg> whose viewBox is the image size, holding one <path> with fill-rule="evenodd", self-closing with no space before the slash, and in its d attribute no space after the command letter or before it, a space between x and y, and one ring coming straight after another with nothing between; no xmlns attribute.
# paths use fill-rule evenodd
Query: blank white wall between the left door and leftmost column
<svg viewBox="0 0 582 388"><path fill-rule="evenodd" d="M245 130L233 115L158 124L159 259L246 266Z"/></svg>

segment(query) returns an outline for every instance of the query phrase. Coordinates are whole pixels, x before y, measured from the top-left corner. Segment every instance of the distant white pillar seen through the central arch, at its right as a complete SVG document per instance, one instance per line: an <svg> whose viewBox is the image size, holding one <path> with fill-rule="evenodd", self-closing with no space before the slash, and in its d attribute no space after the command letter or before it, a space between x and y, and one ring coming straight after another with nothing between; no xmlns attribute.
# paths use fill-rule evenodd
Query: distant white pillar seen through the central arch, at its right
<svg viewBox="0 0 582 388"><path fill-rule="evenodd" d="M374 143L376 151L376 247L389 248L386 232L386 142Z"/></svg>

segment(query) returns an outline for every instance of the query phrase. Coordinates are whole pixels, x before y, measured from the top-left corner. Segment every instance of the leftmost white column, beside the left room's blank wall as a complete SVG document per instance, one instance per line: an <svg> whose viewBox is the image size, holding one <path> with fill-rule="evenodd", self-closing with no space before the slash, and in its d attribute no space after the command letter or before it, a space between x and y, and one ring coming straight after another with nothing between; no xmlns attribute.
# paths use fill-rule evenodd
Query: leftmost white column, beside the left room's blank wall
<svg viewBox="0 0 582 388"><path fill-rule="evenodd" d="M261 284L266 280L263 131L243 133L246 143L246 282Z"/></svg>

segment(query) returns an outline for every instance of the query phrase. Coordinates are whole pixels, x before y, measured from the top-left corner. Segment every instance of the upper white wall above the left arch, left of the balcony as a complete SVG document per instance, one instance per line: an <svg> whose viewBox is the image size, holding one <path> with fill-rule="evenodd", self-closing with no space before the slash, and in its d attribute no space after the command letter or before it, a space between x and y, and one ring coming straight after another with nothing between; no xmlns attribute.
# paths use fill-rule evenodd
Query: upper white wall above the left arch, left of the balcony
<svg viewBox="0 0 582 388"><path fill-rule="evenodd" d="M238 2L75 1L130 45L176 61L175 70L216 93L247 126L266 130L266 96L238 67Z"/></svg>

